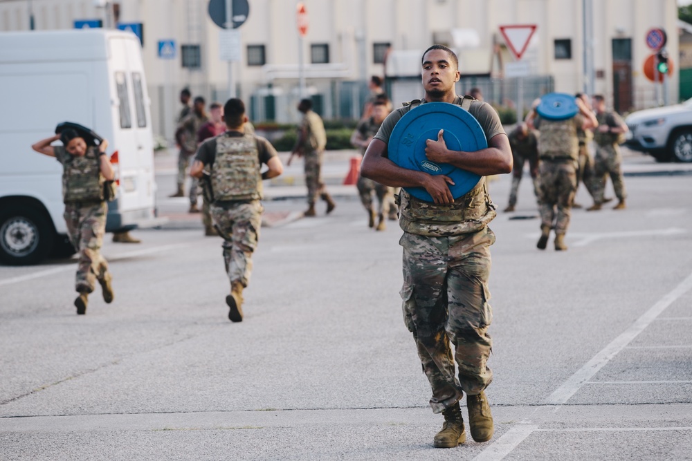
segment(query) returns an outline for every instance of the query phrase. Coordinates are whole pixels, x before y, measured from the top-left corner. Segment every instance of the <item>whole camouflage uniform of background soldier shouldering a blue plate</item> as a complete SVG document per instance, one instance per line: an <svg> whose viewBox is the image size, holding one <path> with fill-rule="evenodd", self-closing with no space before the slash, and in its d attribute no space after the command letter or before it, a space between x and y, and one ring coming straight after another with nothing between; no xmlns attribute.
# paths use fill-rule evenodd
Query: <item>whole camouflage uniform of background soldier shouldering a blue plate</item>
<svg viewBox="0 0 692 461"><path fill-rule="evenodd" d="M582 122L581 115L568 120L544 120L536 117L534 122L534 126L540 130L538 156L541 226L554 227L556 234L565 234L570 225L579 160L576 130Z"/></svg>

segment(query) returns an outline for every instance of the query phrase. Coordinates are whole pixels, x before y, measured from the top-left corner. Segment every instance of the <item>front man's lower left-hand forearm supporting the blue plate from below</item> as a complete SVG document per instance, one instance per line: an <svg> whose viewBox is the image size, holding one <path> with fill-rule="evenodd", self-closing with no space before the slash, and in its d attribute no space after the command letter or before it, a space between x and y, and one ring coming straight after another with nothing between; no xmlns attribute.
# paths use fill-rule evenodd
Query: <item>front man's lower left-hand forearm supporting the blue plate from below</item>
<svg viewBox="0 0 692 461"><path fill-rule="evenodd" d="M401 168L385 157L387 144L374 138L367 147L361 174L380 184L390 187L425 187L435 203L452 203L454 197L448 184L454 185L453 180L445 175L431 176L423 171Z"/></svg>

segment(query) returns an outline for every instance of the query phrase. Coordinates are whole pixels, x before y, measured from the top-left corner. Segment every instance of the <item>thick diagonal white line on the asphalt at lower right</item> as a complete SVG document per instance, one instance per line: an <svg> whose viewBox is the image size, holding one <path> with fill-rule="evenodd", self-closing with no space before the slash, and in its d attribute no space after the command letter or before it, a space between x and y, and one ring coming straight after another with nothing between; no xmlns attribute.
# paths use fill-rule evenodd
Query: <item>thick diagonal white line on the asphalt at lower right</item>
<svg viewBox="0 0 692 461"><path fill-rule="evenodd" d="M581 389L585 384L601 384L598 382L590 382L590 379L596 375L596 373L603 368L608 362L617 355L618 352L627 347L628 344L635 339L639 333L644 331L646 327L652 323L659 314L661 314L669 305L674 303L677 299L682 297L686 292L692 289L692 274L687 276L680 285L673 288L671 292L668 292L664 297L659 299L651 308L649 308L644 314L635 321L630 328L625 330L619 337L615 338L608 346L605 346L597 355L588 361L583 367L581 367L574 375L572 375L567 381L556 389L546 400L547 405L562 405L567 403L572 395L574 395L579 389ZM618 384L627 384L628 382L619 382ZM632 382L637 384L643 384L646 382ZM667 383L666 383L667 384ZM680 384L676 382L675 384ZM559 408L559 407L558 407ZM534 412L535 413L535 412ZM687 430L687 429L685 429ZM484 449L480 455L478 455L475 460L492 460L498 461L502 460L505 456L509 455L513 449L518 446L523 440L525 440L534 431L549 431L548 429L538 429L538 424L518 424L512 429L507 431L502 437L500 437L496 442L491 444L488 448Z"/></svg>

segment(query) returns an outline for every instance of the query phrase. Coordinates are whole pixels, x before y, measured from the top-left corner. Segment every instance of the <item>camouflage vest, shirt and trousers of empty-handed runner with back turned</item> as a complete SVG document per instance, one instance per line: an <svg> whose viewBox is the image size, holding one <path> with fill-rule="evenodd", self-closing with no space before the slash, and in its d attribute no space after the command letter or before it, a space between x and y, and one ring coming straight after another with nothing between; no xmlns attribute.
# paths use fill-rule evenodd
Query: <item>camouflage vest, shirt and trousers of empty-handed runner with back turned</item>
<svg viewBox="0 0 692 461"><path fill-rule="evenodd" d="M260 167L273 156L276 151L267 140L238 131L210 138L197 151L196 159L210 171L210 211L224 238L224 264L232 286L239 282L246 287L250 281L264 211Z"/></svg>

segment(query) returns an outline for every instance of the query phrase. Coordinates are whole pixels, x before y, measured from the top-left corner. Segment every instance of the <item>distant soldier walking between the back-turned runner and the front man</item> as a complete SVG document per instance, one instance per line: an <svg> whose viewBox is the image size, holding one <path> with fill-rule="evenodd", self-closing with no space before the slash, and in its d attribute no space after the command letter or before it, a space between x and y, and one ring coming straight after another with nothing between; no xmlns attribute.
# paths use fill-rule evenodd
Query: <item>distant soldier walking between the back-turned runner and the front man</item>
<svg viewBox="0 0 692 461"><path fill-rule="evenodd" d="M322 156L327 147L325 124L322 122L322 117L312 110L311 99L300 100L298 111L303 114L303 117L298 127L298 140L295 142L287 164L291 164L294 155L304 158L308 203L304 216L316 216L315 202L318 196L327 202L327 214L329 214L336 208L336 203L331 199L325 183L322 182Z"/></svg>

